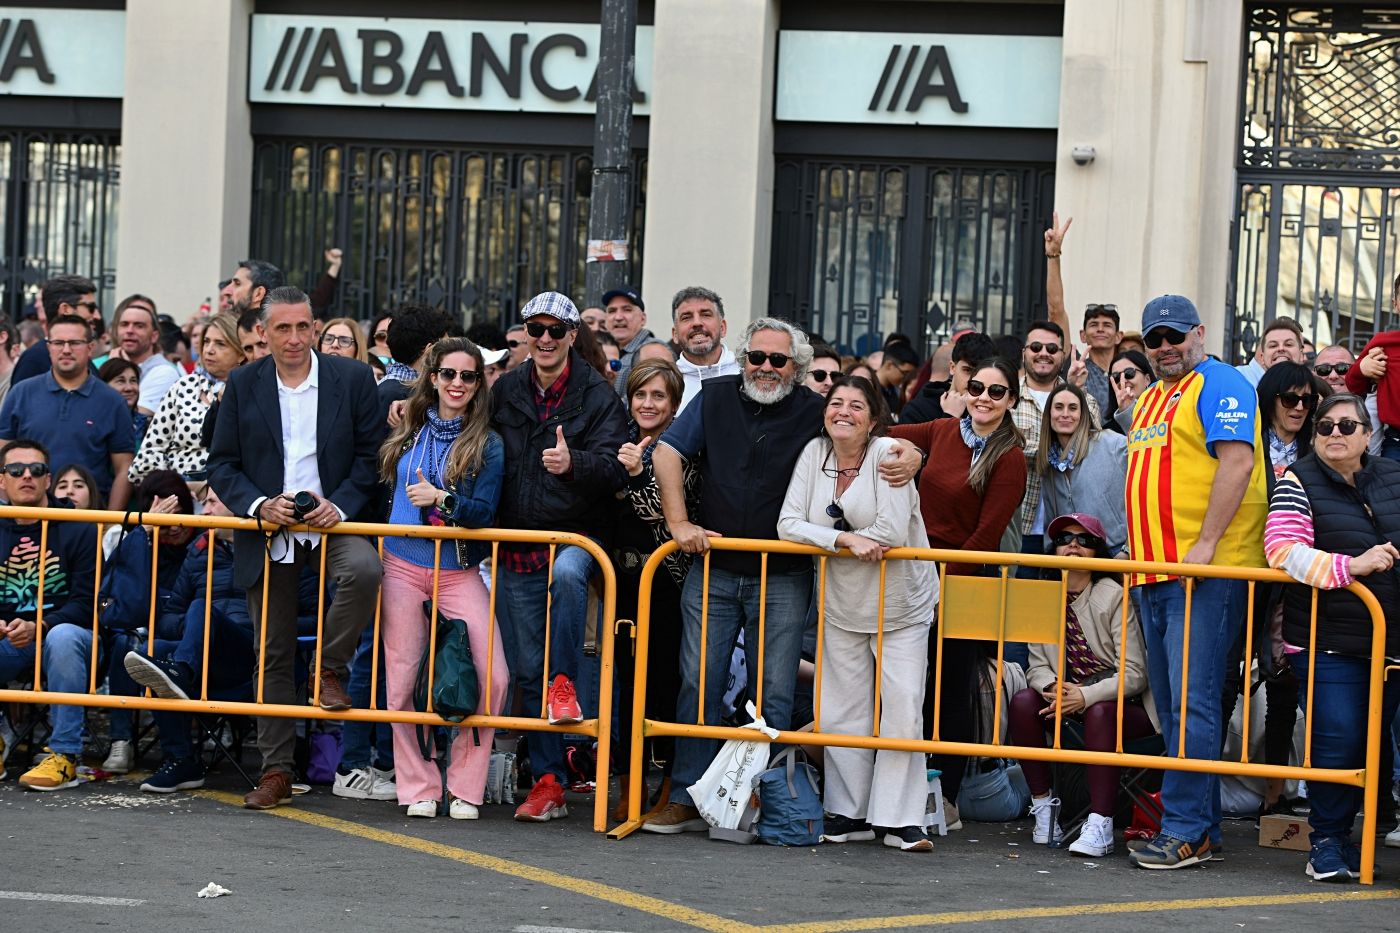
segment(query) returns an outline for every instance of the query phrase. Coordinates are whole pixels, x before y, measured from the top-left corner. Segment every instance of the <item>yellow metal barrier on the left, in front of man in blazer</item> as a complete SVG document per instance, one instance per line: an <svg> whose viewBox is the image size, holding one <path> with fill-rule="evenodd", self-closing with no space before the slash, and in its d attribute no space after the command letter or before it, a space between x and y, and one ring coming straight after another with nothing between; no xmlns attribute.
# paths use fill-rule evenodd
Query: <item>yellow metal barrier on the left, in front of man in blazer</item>
<svg viewBox="0 0 1400 933"><path fill-rule="evenodd" d="M325 586L319 587L319 594L316 600L316 651L315 661L312 665L314 677L309 678L312 685L312 696L309 706L295 706L286 703L263 703L263 657L265 657L265 643L266 643L266 625L260 625L260 639L258 647L258 677L255 698L256 702L225 702L213 700L209 698L209 642L210 642L210 612L211 602L210 594L213 593L213 566L214 566L214 549L209 549L209 573L204 581L204 664L200 674L199 699L160 699L155 696L104 696L97 693L97 660L98 660L98 636L99 636L99 612L98 612L98 594L101 593L101 577L102 577L102 531L108 525L120 525L123 521L127 527L147 527L147 528L164 528L164 527L192 527L197 530L232 530L232 531L258 531L258 523L252 518L224 518L214 516L172 516L161 513L132 513L123 514L120 511L92 511L92 510L76 510L76 509L24 509L15 506L0 506L0 518L22 520L29 523L39 523L39 552L45 553L49 541L49 528L53 523L85 523L95 527L94 534L94 548L97 549L97 581L94 583L94 604L92 604L92 657L88 671L88 692L87 693L55 693L42 689L43 685L43 584L45 584L45 570L46 562L39 562L38 573L38 591L39 598L36 601L36 629L35 629L35 651L34 651L34 689L28 691L14 691L14 689L0 689L0 703L57 703L67 706L99 706L109 709L129 709L129 710L168 710L168 712L183 712L183 713L227 713L237 716L283 716L290 719L329 719L329 720L349 720L349 721L365 721L365 723L413 723L426 726L451 726L458 728L470 728L473 726L483 728L510 728L518 731L552 731L552 733L573 733L582 734L594 738L598 742L598 794L594 803L594 831L602 832L606 828L606 811L608 811L608 756L612 740L612 677L613 677L613 639L602 639L602 657L601 657L601 679L599 679L599 698L598 698L598 716L595 719L584 720L582 723L575 723L571 726L550 726L546 720L545 710L540 710L540 716L504 716L501 710L491 710L490 703L490 689L486 691L486 709L479 714L473 714L462 720L461 723L449 723L441 716L431 712L431 684L428 686L428 712L403 712L403 710L386 710L375 707L375 698L378 696L378 651L379 651L379 625L381 625L381 609L379 600L375 601L374 612L374 667L370 682L370 707L368 709L350 709L350 710L323 710L315 705L319 693L319 672L321 672L321 635L322 626L325 623L326 611L326 593ZM486 678L484 684L491 684L491 667L494 663L494 644L497 637L497 625L494 623L496 616L496 594L497 594L497 574L500 573L498 551L503 544L538 544L549 546L549 573L550 580L553 580L554 572L554 555L559 548L566 545L573 545L575 548L582 548L587 551L594 560L598 563L599 574L602 579L602 615L606 632L613 630L613 615L616 612L617 601L617 577L613 573L612 562L608 553L598 546L594 541L573 534L563 532L540 532L540 531L511 531L501 528L483 528L483 530L468 530L455 527L434 527L434 525L392 525L392 524L370 524L370 523L353 523L343 521L333 528L307 528L297 525L294 531L314 531L318 534L332 534L332 535L360 535L367 538L379 538L379 556L384 556L384 538L428 538L434 541L434 553L438 558L435 563L441 565L441 551L444 542L454 542L456 539L468 541L486 541L491 544L491 583L490 583L490 615L491 625L487 629L487 653L486 653ZM155 553L158 546L158 535L151 535L151 548ZM321 548L321 580L325 580L326 572L326 548ZM263 553L263 588L262 588L262 618L267 618L267 562L269 552L265 548ZM151 608L148 623L148 650L154 650L155 642L155 588L157 588L157 566L155 560L151 562ZM438 600L438 581L440 573L434 570L433 574L433 611L434 616L437 614L437 600ZM545 695L547 695L550 671L549 671L549 604L546 601L546 626L545 626L545 671L543 671L543 686ZM435 657L437 651L437 637L435 628L428 626L428 644L430 644L430 671L431 658ZM430 674L431 677L431 674ZM148 691L147 691L148 693Z"/></svg>

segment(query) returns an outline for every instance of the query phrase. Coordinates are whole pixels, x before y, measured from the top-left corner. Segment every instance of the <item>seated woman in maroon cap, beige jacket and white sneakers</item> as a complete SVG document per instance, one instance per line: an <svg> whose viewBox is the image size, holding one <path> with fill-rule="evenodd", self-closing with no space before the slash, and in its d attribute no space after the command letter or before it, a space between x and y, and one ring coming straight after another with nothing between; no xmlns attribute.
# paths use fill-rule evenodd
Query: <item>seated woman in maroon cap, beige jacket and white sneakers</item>
<svg viewBox="0 0 1400 933"><path fill-rule="evenodd" d="M1061 558L1107 558L1103 524L1084 513L1058 516L1047 528L1047 539ZM1113 574L1071 570L1067 577L1064 682L1060 677L1060 649L1032 643L1029 688L1011 699L1011 741L1015 745L1046 748L1046 733L1054 728L1056 710L1084 726L1084 747L1112 752L1117 745L1119 656L1123 656L1123 741L1158 731L1156 707L1147 682L1147 654L1137 612L1127 607L1124 632L1123 584ZM1123 642L1127 642L1124 649ZM1060 838L1050 792L1050 765L1022 759L1021 769L1030 785L1032 841L1040 845ZM1119 799L1119 769L1107 765L1085 768L1089 779L1089 818L1079 838L1070 845L1075 855L1102 857L1113 852L1113 813Z"/></svg>

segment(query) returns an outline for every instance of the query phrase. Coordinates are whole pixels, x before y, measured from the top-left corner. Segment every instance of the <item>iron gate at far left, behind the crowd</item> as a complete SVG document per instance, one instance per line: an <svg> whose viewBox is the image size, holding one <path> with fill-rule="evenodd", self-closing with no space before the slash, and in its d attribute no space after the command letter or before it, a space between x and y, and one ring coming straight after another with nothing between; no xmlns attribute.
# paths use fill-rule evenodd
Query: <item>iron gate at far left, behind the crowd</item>
<svg viewBox="0 0 1400 933"><path fill-rule="evenodd" d="M11 319L60 273L92 279L112 307L119 181L115 133L0 132L0 300Z"/></svg>

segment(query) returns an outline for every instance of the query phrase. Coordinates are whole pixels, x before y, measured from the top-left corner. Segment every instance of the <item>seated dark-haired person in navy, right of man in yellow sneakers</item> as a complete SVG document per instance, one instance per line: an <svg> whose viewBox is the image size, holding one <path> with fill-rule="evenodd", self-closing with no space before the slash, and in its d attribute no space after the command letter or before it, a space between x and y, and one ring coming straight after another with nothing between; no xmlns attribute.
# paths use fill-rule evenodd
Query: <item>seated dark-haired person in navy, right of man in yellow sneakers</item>
<svg viewBox="0 0 1400 933"><path fill-rule="evenodd" d="M157 469L141 481L133 499L134 511L165 514L195 514L195 497L179 474ZM155 604L151 605L151 534L157 535ZM122 670L119 658L126 649L146 642L146 630L154 625L157 637L172 637L162 629L165 601L185 560L185 545L195 535L190 527L123 528L116 551L102 567L102 588L98 594L99 668L109 674L109 691L118 696L137 696L136 688ZM111 664L111 658L118 658ZM85 682L85 678L84 678ZM102 770L125 775L132 769L134 747L132 726L134 714L113 709L111 713L112 748L102 762Z"/></svg>

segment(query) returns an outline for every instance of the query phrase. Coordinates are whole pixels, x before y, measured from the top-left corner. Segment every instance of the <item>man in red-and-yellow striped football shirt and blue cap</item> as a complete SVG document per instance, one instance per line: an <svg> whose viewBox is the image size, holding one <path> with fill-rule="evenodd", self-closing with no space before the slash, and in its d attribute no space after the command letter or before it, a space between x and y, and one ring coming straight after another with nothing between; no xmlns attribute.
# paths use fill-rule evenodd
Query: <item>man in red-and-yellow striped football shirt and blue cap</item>
<svg viewBox="0 0 1400 933"><path fill-rule="evenodd" d="M1142 310L1142 342L1158 381L1137 401L1128 431L1128 552L1134 560L1264 566L1268 509L1259 401L1249 380L1205 354L1205 328L1182 296ZM1221 684L1245 619L1242 580L1191 584L1189 682L1183 689L1186 587L1180 577L1134 574L1148 682L1168 748L1186 733L1190 758L1219 756ZM1186 720L1182 721L1183 693ZM1131 855L1140 869L1180 869L1221 843L1219 778L1162 775L1162 829Z"/></svg>

